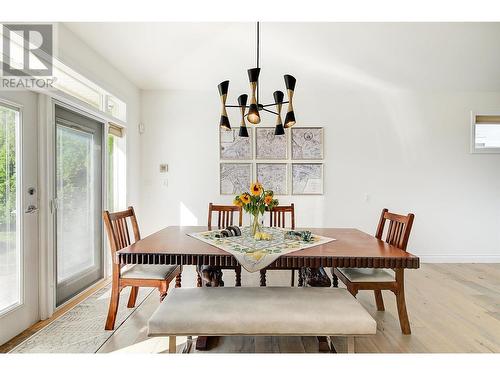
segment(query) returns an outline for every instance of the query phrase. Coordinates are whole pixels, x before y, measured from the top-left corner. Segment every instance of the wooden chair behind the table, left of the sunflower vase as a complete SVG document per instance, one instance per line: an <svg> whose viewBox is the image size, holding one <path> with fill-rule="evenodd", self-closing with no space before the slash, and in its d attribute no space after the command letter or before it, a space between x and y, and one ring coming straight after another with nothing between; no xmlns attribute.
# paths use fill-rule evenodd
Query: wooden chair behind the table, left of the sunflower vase
<svg viewBox="0 0 500 375"><path fill-rule="evenodd" d="M241 227L243 225L243 210L238 206L231 205L220 205L220 204L208 204L208 230L212 230L212 218L214 214L217 216L217 229L225 229L231 225L236 225L234 219L234 214L238 214L237 225ZM222 270L232 269L235 272L235 286L241 286L241 266L206 266L198 265L197 270L197 283L198 287L203 286L203 279L205 280L206 286L224 286L224 281L222 280Z"/></svg>

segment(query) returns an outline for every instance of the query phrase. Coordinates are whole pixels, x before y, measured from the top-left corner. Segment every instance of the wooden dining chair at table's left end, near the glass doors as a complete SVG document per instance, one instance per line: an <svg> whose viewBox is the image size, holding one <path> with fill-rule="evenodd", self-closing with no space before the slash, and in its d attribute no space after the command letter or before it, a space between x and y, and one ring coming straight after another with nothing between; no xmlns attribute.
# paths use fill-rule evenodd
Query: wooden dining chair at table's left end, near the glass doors
<svg viewBox="0 0 500 375"><path fill-rule="evenodd" d="M135 306L139 287L158 288L160 300L163 300L167 295L168 285L174 278L175 287L179 288L181 286L182 266L136 264L127 268L122 267L117 263L116 252L141 239L134 208L129 207L125 211L114 213L104 211L102 216L108 233L111 259L113 260L111 299L105 329L113 330L118 312L120 292L123 288L127 286L132 288L127 304L129 308ZM133 241L131 240L128 222L132 225Z"/></svg>

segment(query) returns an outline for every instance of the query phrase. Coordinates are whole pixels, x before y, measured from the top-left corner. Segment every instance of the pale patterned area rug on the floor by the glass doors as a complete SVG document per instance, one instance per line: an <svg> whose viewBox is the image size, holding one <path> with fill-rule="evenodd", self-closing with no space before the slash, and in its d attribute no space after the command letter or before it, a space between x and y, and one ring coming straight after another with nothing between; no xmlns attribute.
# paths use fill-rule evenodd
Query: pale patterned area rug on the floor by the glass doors
<svg viewBox="0 0 500 375"><path fill-rule="evenodd" d="M135 307L129 309L127 301L130 288L123 290L115 330L153 291L153 288L140 288ZM104 329L110 297L111 285L108 285L16 346L10 353L96 353L114 333Z"/></svg>

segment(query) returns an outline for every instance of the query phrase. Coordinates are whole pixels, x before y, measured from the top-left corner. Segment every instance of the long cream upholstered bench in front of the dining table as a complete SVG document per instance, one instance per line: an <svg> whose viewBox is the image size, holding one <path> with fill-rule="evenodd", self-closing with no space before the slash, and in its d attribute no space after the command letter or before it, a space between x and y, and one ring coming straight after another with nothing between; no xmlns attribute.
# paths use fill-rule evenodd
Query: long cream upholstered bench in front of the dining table
<svg viewBox="0 0 500 375"><path fill-rule="evenodd" d="M347 336L373 335L377 324L339 288L177 288L148 322L149 336Z"/></svg>

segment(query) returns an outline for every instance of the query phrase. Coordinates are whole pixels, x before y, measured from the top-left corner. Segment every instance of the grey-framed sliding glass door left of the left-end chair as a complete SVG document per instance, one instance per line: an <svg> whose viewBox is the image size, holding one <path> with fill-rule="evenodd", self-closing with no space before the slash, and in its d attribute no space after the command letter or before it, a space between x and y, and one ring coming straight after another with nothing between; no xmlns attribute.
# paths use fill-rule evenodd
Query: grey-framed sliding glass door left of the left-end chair
<svg viewBox="0 0 500 375"><path fill-rule="evenodd" d="M56 303L103 277L104 125L56 106Z"/></svg>

